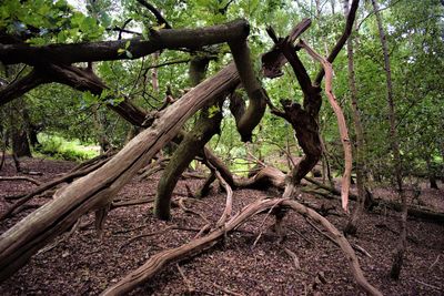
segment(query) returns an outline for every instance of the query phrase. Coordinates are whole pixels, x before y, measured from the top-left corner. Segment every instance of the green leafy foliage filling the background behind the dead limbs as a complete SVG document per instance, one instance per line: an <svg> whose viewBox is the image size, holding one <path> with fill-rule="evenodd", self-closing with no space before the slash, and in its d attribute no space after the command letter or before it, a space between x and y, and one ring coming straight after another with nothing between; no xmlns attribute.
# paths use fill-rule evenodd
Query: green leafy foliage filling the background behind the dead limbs
<svg viewBox="0 0 444 296"><path fill-rule="evenodd" d="M228 3L230 4L228 6ZM251 24L249 45L254 68L260 76L260 55L272 47L265 33L271 24L279 35L285 35L302 18L311 18L312 25L302 35L317 52L325 55L334 45L344 25L340 1L324 1L321 11L315 1L291 0L152 0L169 23L178 28L198 28L246 18ZM331 7L332 2L336 6ZM342 1L341 1L342 2ZM444 137L444 104L441 72L444 68L443 6L435 0L425 0L417 6L414 1L385 1L391 4L382 11L387 31L387 42L392 62L392 78L396 104L397 131L402 139L401 151L405 173L427 170L426 159L431 159L434 171L442 170ZM132 19L125 29L144 33L161 30L162 25L135 0L84 1L84 9L78 11L65 0L3 0L0 4L0 30L14 34L32 44L69 43L90 40L117 40L118 32L109 30ZM334 13L333 13L334 10ZM364 20L359 31L354 31L355 73L359 91L359 106L365 130L365 157L369 170L375 174L390 172L387 108L385 101L385 76L383 57L377 38L374 16L364 19L371 8L362 4L357 20ZM123 38L131 38L123 34ZM132 58L131 41L123 43L118 52ZM232 60L226 44L205 48L215 52L218 60L211 61L208 75L214 74ZM192 52L192 54L200 54ZM303 51L299 57L313 78L319 63ZM59 84L42 85L26 95L31 121L41 123L48 134L63 134L67 140L81 139L82 142L98 143L103 135L117 146L124 143L129 124L107 110L105 104L117 105L128 98L138 106L151 111L159 109L168 88L174 99L189 88L188 63L169 67L155 65L190 59L190 52L165 50L159 57L124 61L104 61L93 64L94 72L109 86L101 95L80 93ZM347 58L344 51L336 58L333 68L334 92L345 112L350 134L351 124L347 90ZM157 69L159 88L153 86L153 69ZM18 71L16 71L18 72ZM22 74L29 72L24 69ZM291 67L283 69L279 79L263 79L272 102L280 106L281 99L302 103L302 92ZM245 99L246 100L246 99ZM210 116L219 112L218 106L208 110ZM222 108L222 134L211 141L211 146L234 169L244 170L248 157L240 142L235 122L228 104ZM192 122L192 121L190 121ZM6 123L1 123L4 126ZM1 125L0 124L0 125ZM191 124L190 124L191 125ZM320 113L320 127L331 163L337 170L342 165L342 146L334 113L324 99ZM253 136L255 155L281 165L283 149L293 155L301 151L293 136L292 127L282 119L268 111ZM57 143L48 144L57 146ZM56 147L49 149L56 151Z"/></svg>

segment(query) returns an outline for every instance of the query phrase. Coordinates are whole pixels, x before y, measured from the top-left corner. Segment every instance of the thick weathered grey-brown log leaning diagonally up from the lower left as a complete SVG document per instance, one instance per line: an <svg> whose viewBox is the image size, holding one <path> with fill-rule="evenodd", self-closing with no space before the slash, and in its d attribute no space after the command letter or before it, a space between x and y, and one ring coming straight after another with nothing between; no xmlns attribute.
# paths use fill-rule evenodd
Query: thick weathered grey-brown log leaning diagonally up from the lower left
<svg viewBox="0 0 444 296"><path fill-rule="evenodd" d="M226 95L239 81L234 64L225 67L160 113L151 127L131 140L99 170L58 191L53 201L0 236L0 282L11 276L41 247L91 210L108 205L183 123L214 96Z"/></svg>

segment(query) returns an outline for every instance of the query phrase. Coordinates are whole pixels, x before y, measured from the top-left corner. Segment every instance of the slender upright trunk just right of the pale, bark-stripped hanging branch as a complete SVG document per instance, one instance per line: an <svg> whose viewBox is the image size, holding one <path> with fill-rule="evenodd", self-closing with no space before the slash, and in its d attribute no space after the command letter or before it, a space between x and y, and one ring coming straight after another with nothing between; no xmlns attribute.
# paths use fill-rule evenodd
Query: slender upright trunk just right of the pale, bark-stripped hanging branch
<svg viewBox="0 0 444 296"><path fill-rule="evenodd" d="M344 0L344 14L349 14L349 0ZM364 175L364 131L361 122L361 115L357 108L357 90L354 72L353 59L353 35L351 35L346 43L347 60L349 60L349 88L352 105L352 118L354 130L356 133L355 144L355 170L356 170L356 186L357 186L357 202L353 208L353 213L344 228L345 234L354 235L357 232L357 222L364 210L365 192L365 175Z"/></svg>

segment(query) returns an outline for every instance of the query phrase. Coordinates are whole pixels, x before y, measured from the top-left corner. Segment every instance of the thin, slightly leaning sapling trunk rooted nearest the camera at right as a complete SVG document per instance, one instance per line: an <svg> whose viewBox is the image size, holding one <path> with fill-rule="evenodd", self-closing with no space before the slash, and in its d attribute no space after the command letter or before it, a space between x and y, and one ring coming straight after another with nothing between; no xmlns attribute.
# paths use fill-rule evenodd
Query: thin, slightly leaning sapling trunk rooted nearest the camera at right
<svg viewBox="0 0 444 296"><path fill-rule="evenodd" d="M386 78L386 88L387 88L387 104L389 104L389 122L390 122L390 136L391 136L391 146L394 160L394 176L396 181L396 190L402 203L402 212L400 220L400 237L394 252L394 259L392 269L390 272L390 276L394 279L400 278L400 273L404 259L404 252L406 248L406 236L407 236L407 198L403 192L403 181L402 181L402 166L401 166L401 154L400 154L400 143L396 131L396 115L395 115L395 104L393 100L393 85L392 85L392 71L390 67L390 57L389 57L389 48L387 41L384 32L384 28L382 24L382 18L379 10L379 6L375 0L372 0L373 11L376 16L377 29L380 32L381 47L384 54L384 70Z"/></svg>

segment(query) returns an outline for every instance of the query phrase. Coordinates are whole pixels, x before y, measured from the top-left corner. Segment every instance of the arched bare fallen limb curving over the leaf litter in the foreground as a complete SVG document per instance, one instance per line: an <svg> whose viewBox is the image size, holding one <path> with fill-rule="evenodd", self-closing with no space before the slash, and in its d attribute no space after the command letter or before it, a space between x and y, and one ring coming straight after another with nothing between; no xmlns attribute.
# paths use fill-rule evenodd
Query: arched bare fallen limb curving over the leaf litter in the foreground
<svg viewBox="0 0 444 296"><path fill-rule="evenodd" d="M191 256L195 256L205 249L214 246L221 238L225 236L228 232L231 232L246 222L250 217L275 208L276 206L283 206L296 211L299 214L312 218L314 222L320 224L332 234L333 241L341 247L344 253L352 274L362 290L369 295L382 295L375 287L373 287L364 277L356 255L349 244L346 238L324 217L320 214L297 203L286 198L278 200L262 200L252 203L244 207L238 215L233 216L223 227L219 227L211 232L209 235L198 239L193 239L188 244L180 247L165 249L157 255L152 256L147 263L140 266L138 269L129 273L115 285L105 289L102 295L124 295L130 290L134 289L140 284L149 280L153 275L158 274L163 267L173 262L183 261Z"/></svg>

